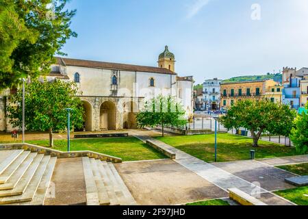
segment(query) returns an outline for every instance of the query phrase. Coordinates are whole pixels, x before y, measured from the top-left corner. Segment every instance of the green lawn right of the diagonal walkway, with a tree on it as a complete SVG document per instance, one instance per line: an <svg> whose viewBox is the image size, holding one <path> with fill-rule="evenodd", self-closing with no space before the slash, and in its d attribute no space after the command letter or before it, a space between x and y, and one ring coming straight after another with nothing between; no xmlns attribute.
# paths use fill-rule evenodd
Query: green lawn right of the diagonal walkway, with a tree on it
<svg viewBox="0 0 308 219"><path fill-rule="evenodd" d="M189 153L205 162L214 162L214 134L201 136L157 137L181 151ZM298 155L294 147L259 141L259 147L253 148L253 140L228 133L218 134L218 162L250 159L250 150L256 151L255 158L283 157Z"/></svg>

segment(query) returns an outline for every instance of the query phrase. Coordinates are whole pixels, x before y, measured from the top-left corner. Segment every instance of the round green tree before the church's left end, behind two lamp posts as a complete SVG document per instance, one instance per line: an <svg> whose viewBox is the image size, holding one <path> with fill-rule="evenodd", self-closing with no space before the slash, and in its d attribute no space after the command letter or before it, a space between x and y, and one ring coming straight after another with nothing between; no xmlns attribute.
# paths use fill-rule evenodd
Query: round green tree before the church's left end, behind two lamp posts
<svg viewBox="0 0 308 219"><path fill-rule="evenodd" d="M74 82L33 81L25 86L25 128L27 131L49 131L49 145L53 146L53 131L64 131L67 126L66 108L71 108L71 127L84 124L84 107ZM22 90L10 96L8 118L13 127L22 127Z"/></svg>

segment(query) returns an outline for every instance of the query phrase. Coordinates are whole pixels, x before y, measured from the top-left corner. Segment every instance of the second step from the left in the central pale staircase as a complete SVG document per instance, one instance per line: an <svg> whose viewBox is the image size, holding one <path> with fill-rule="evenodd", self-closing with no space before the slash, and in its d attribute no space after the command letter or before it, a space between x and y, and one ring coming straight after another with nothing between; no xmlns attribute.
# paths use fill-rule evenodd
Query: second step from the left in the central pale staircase
<svg viewBox="0 0 308 219"><path fill-rule="evenodd" d="M90 164L92 167L92 172L94 176L95 184L97 185L97 191L99 193L99 205L110 205L110 198L108 196L107 190L103 183L101 174L99 173L99 168L97 167L97 162L94 158L90 159Z"/></svg>

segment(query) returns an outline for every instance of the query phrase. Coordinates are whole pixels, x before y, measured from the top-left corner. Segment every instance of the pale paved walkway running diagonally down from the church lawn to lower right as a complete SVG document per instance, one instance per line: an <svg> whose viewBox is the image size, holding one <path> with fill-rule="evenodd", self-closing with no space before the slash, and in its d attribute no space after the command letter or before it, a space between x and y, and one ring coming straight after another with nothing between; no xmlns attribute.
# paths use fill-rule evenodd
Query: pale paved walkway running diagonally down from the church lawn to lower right
<svg viewBox="0 0 308 219"><path fill-rule="evenodd" d="M162 148L168 149L173 153L176 153L175 162L181 164L185 168L188 168L192 172L195 172L197 175L203 177L207 181L214 183L219 188L224 191L227 191L228 188L238 188L247 194L255 195L255 194L268 194L270 198L264 198L264 202L269 205L293 205L290 201L285 200L284 198L278 197L275 194L272 194L268 190L261 188L258 186L258 183L251 183L242 179L236 175L233 175L218 166L214 166L213 164L208 164L203 162L203 160L193 157L188 153L184 153L179 149L175 149L174 147L165 144L155 138L151 138L146 136L146 131L131 131L131 134L136 138L139 138L142 141L151 140L156 144L159 144Z"/></svg>

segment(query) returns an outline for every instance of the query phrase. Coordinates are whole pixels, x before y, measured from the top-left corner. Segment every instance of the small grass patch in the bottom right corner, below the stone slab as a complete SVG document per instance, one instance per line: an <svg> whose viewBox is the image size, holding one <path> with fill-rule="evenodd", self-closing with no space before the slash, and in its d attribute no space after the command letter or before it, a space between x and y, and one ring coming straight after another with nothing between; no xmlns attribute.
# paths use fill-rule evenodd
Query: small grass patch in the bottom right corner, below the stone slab
<svg viewBox="0 0 308 219"><path fill-rule="evenodd" d="M274 193L296 203L296 205L308 205L308 186L281 190Z"/></svg>

